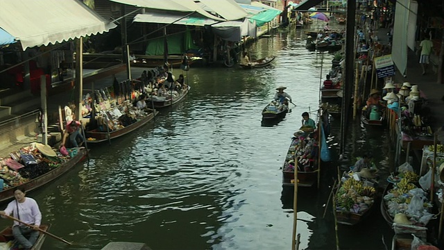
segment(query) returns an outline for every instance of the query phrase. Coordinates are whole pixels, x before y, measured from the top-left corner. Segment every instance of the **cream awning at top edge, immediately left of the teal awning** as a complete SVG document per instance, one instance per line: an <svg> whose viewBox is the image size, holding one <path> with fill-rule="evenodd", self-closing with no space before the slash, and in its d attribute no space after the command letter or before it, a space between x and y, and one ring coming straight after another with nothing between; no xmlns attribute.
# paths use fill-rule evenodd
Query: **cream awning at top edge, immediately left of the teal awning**
<svg viewBox="0 0 444 250"><path fill-rule="evenodd" d="M210 8L212 12L221 15L221 17L228 21L239 20L248 15L248 13L234 0L200 0L200 3L203 3Z"/></svg>

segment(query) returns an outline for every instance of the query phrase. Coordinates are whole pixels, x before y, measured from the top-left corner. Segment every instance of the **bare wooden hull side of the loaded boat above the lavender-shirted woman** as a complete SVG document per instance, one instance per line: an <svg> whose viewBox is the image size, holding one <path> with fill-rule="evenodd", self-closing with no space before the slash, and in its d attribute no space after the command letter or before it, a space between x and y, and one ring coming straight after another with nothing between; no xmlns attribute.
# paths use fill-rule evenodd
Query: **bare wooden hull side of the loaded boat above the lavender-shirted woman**
<svg viewBox="0 0 444 250"><path fill-rule="evenodd" d="M87 154L86 149L78 148L76 156L69 159L66 163L62 163L60 166L54 167L51 171L47 172L46 174L38 176L37 178L33 178L31 181L23 183L22 185L16 185L12 188L2 190L0 192L0 203L14 198L15 188L24 188L26 192L29 192L37 188L40 188L42 185L45 185L46 183L53 181L58 176L65 174L65 172L67 172L69 169L74 167L74 165L79 163L80 160L83 160L86 154Z"/></svg>

